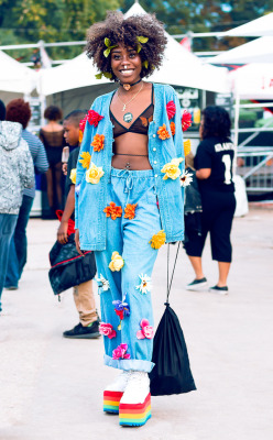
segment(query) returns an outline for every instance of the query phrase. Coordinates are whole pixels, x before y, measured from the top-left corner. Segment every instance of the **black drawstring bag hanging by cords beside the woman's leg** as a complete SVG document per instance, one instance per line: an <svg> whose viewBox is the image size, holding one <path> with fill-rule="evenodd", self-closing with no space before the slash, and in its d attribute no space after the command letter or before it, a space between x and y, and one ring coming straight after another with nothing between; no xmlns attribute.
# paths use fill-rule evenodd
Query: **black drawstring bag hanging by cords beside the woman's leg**
<svg viewBox="0 0 273 440"><path fill-rule="evenodd" d="M187 346L179 320L170 307L168 296L178 256L178 243L172 279L168 284L170 244L167 248L167 299L166 309L154 337L152 362L155 363L150 373L152 396L188 393L196 389L190 372Z"/></svg>

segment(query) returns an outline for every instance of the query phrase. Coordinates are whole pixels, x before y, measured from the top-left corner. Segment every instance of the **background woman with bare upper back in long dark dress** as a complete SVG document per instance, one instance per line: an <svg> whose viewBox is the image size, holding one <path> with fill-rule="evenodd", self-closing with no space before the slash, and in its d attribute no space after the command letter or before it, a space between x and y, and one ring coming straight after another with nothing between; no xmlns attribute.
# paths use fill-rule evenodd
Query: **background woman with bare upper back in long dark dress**
<svg viewBox="0 0 273 440"><path fill-rule="evenodd" d="M44 111L47 124L40 130L40 139L44 144L50 168L46 172L47 200L53 218L55 210L62 208L62 151L65 145L64 130L57 121L63 118L62 110L56 106L50 106Z"/></svg>

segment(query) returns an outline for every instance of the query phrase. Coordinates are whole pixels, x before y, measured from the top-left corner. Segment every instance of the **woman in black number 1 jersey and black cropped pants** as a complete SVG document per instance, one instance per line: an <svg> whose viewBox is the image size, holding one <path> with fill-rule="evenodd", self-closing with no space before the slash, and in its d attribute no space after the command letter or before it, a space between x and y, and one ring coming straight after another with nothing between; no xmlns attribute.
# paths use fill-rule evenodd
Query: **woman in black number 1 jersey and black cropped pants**
<svg viewBox="0 0 273 440"><path fill-rule="evenodd" d="M230 232L236 210L232 167L234 145L230 141L229 113L221 107L207 107L199 127L201 142L195 156L196 177L201 195L201 235L185 244L196 278L188 290L207 285L201 266L206 237L210 233L212 260L218 262L218 283L210 292L227 295L227 278L231 264Z"/></svg>

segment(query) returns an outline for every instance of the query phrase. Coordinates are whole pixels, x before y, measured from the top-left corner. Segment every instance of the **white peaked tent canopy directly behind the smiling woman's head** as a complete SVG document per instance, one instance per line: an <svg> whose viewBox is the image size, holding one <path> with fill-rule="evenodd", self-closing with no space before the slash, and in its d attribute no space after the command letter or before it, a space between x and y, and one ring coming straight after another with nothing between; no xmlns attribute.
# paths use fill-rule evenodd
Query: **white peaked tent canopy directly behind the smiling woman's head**
<svg viewBox="0 0 273 440"><path fill-rule="evenodd" d="M134 3L125 16L145 13L139 3ZM172 36L166 34L166 37L167 47L163 66L151 76L152 81L229 92L226 68L204 65ZM96 79L97 73L92 62L87 58L86 54L81 54L62 66L44 69L41 73L40 92L48 96L79 87L109 84L107 78Z"/></svg>

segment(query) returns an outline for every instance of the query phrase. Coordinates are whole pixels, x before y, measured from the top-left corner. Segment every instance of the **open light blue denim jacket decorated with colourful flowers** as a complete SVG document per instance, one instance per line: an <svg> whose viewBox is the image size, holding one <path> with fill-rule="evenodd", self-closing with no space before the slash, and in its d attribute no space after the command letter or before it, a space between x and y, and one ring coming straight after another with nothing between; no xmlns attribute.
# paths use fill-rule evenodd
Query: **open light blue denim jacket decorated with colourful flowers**
<svg viewBox="0 0 273 440"><path fill-rule="evenodd" d="M179 177L163 179L162 168L173 158L184 158L181 106L175 90L171 86L154 84L154 113L149 127L149 161L154 170L155 194L159 199L162 229L166 242L181 241L184 238L184 189ZM98 97L91 107L103 117L97 127L86 123L80 146L79 161L83 152L89 152L91 162L102 167L103 175L97 184L86 182L87 170L78 162L76 173L75 222L79 229L79 241L83 250L103 251L106 249L107 218L103 209L107 201L107 185L110 185L113 125L110 121L109 108L114 91ZM168 120L166 105L174 101L175 116ZM175 134L171 134L171 122L175 123ZM165 124L170 139L161 140L157 131ZM94 151L91 143L96 134L105 135L103 148ZM179 164L184 169L184 161ZM159 231L154 231L157 233Z"/></svg>

